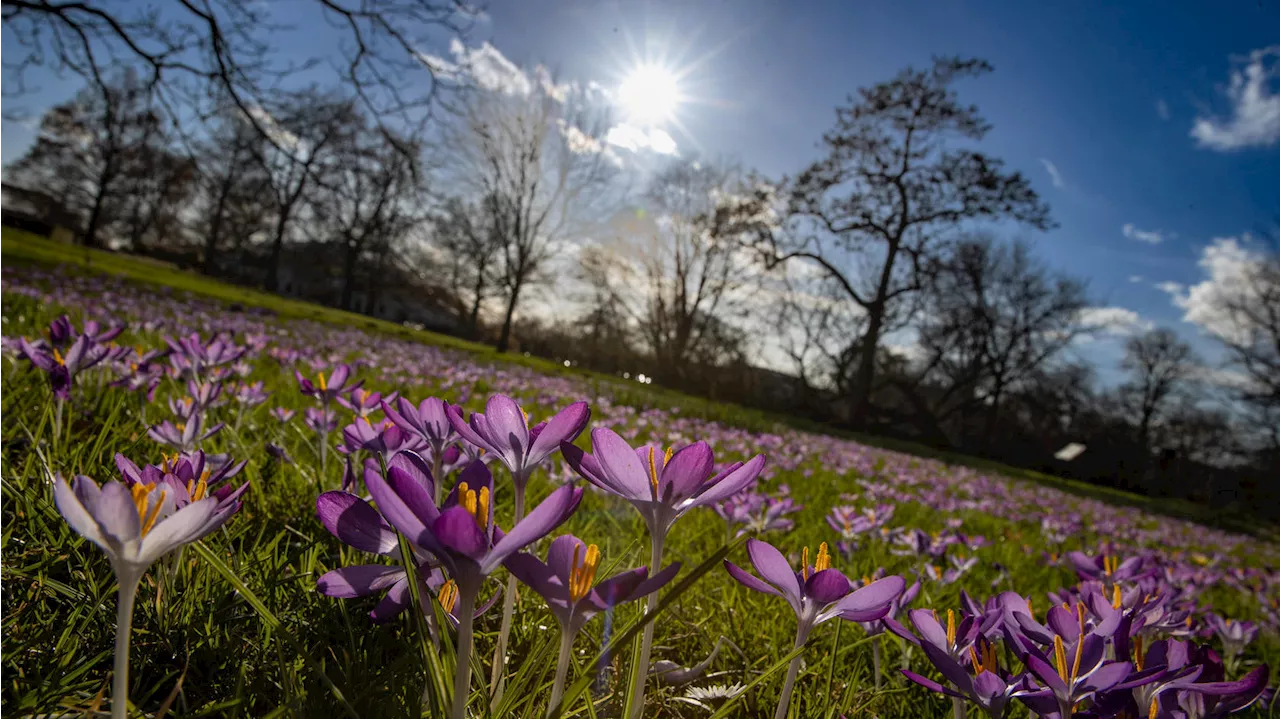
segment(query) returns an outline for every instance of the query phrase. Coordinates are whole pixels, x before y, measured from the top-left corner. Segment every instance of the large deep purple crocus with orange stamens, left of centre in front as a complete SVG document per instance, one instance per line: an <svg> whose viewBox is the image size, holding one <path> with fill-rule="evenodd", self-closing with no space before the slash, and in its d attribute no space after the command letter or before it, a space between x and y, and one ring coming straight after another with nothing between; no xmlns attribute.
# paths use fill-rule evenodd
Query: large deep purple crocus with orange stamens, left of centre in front
<svg viewBox="0 0 1280 719"><path fill-rule="evenodd" d="M376 470L365 468L365 486L383 517L410 542L439 559L456 582L461 658L471 656L472 615L484 578L508 557L563 523L582 500L581 489L562 486L503 535L493 522L493 476L483 463L472 463L463 475L472 468L471 481L460 478L440 508L429 487L399 467L389 467L385 480ZM458 661L452 719L462 719L470 687L471 663Z"/></svg>

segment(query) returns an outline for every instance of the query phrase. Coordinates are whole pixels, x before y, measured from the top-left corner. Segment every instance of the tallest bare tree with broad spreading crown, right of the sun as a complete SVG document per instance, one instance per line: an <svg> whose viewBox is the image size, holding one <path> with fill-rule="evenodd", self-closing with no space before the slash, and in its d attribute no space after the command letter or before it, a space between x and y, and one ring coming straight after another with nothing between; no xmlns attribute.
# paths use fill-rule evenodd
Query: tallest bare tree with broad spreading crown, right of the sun
<svg viewBox="0 0 1280 719"><path fill-rule="evenodd" d="M768 237L772 264L817 265L867 315L856 343L852 417L865 422L877 352L895 304L922 288L920 270L947 232L970 220L1052 225L1020 173L948 138L979 141L991 129L952 84L991 72L983 60L942 58L859 91L836 110L827 156L791 187L790 232Z"/></svg>

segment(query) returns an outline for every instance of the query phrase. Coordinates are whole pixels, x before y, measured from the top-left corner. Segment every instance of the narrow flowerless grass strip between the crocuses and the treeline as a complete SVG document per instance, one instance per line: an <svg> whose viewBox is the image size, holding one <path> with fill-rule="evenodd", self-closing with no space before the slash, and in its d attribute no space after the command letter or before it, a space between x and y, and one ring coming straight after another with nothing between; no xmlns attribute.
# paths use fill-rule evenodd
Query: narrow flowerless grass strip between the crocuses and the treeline
<svg viewBox="0 0 1280 719"><path fill-rule="evenodd" d="M689 416L703 417L724 425L739 426L754 431L771 431L776 426L787 426L803 431L832 434L852 439L870 446L938 459L951 466L972 467L984 472L996 472L1009 477L1042 484L1078 496L1098 499L1110 504L1134 507L1167 517L1198 522L1206 526L1263 536L1270 540L1280 539L1280 531L1277 531L1276 527L1263 523L1238 508L1211 508L1185 499L1151 498L1103 485L1094 485L1078 480L1056 477L1032 470L1010 467L991 459L970 457L956 452L940 450L918 443L836 430L804 417L763 412L732 403L710 402L705 398L691 397L660 386L655 388L652 385L639 385L636 383L623 381L611 375L602 375L599 372L577 367L564 367L558 362L552 362L539 357L526 357L518 353L498 353L493 347L486 344L467 342L445 334L416 330L396 322L355 312L346 312L332 307L289 299L257 289L228 284L197 273L179 270L166 262L159 262L145 257L91 249L86 247L73 247L9 228L0 228L0 260L9 264L35 264L41 266L60 265L73 267L76 271L105 273L142 285L189 292L201 297L207 297L225 303L236 303L243 307L261 307L274 312L282 320L312 320L338 326L351 326L376 331L389 336L466 352L477 362L503 362L529 367L544 375L581 377L585 381L591 383L598 390L616 397L623 404L636 407L657 407L663 409L678 407L682 413Z"/></svg>

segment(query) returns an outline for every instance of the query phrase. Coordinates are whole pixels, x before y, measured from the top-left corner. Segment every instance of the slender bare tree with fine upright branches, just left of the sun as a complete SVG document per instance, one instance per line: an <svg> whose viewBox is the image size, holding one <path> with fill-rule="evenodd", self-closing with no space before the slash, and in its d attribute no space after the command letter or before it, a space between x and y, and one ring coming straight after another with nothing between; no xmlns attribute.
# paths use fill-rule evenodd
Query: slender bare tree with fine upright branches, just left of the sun
<svg viewBox="0 0 1280 719"><path fill-rule="evenodd" d="M548 83L556 87L554 83ZM500 243L507 307L498 351L526 290L564 242L599 221L616 174L603 143L607 118L570 92L476 90L449 143L458 179L481 202Z"/></svg>

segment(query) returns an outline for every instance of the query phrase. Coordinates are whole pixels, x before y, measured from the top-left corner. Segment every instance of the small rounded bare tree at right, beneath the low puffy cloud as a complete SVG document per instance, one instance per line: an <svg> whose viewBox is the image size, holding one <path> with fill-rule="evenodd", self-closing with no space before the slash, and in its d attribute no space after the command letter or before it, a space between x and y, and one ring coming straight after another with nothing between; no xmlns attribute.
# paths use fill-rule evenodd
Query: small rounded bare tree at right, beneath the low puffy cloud
<svg viewBox="0 0 1280 719"><path fill-rule="evenodd" d="M1198 368L1196 356L1172 331L1156 329L1125 343L1120 366L1130 374L1120 388L1121 403L1138 426L1138 441L1149 453L1155 427L1171 400L1189 389Z"/></svg>

